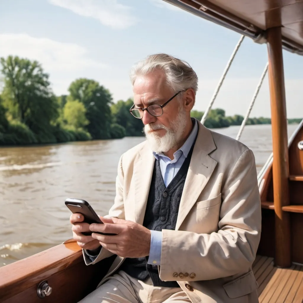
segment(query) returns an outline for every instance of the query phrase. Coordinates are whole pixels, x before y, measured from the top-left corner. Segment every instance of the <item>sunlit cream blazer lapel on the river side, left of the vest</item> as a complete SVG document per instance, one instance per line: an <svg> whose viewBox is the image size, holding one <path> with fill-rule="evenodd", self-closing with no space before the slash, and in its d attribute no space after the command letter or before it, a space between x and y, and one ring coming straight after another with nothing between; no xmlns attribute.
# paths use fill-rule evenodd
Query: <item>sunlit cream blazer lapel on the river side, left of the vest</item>
<svg viewBox="0 0 303 303"><path fill-rule="evenodd" d="M135 180L135 222L141 225L144 220L154 164L155 157L148 148L148 144L145 144L135 161L133 173Z"/></svg>

